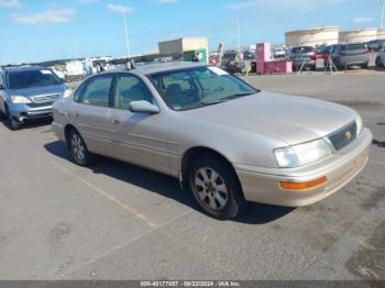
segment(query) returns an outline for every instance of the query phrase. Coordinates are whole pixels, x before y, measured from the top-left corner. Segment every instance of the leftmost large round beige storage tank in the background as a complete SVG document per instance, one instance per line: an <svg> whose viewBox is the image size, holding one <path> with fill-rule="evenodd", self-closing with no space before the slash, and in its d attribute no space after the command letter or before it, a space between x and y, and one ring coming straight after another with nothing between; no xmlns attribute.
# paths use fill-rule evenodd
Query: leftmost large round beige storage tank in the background
<svg viewBox="0 0 385 288"><path fill-rule="evenodd" d="M285 44L287 47L332 45L338 44L338 26L323 26L285 33Z"/></svg>

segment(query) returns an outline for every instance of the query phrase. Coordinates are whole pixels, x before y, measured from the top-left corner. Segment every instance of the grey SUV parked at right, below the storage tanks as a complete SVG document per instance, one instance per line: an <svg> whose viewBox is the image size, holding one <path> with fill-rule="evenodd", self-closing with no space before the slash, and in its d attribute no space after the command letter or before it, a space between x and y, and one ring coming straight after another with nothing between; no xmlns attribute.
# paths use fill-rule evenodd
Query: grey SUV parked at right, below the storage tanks
<svg viewBox="0 0 385 288"><path fill-rule="evenodd" d="M370 55L365 44L333 45L331 57L339 70L351 66L361 66L367 69Z"/></svg>

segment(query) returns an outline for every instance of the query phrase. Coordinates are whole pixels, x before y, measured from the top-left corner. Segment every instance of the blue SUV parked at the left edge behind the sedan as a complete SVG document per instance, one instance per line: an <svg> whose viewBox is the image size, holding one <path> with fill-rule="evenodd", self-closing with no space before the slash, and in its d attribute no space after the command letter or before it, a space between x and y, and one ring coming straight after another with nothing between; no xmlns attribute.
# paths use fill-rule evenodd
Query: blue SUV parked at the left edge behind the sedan
<svg viewBox="0 0 385 288"><path fill-rule="evenodd" d="M52 118L55 100L69 88L53 70L40 66L3 67L0 71L0 114L12 130L25 121Z"/></svg>

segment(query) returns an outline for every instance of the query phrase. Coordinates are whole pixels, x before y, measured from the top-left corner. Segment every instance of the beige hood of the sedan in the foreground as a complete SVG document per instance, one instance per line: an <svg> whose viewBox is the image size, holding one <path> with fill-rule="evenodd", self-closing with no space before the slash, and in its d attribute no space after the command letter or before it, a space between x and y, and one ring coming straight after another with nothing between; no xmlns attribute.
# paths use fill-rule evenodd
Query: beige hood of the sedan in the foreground
<svg viewBox="0 0 385 288"><path fill-rule="evenodd" d="M289 145L327 136L353 122L356 115L353 110L340 104L268 92L183 113L189 118L271 136Z"/></svg>

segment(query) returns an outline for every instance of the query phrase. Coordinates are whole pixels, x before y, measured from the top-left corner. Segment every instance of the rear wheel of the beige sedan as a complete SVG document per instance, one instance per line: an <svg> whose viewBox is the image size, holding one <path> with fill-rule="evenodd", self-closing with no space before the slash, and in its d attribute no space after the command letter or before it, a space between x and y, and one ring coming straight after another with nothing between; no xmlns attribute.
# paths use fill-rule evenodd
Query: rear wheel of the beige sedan
<svg viewBox="0 0 385 288"><path fill-rule="evenodd" d="M73 159L79 166L89 166L95 160L94 154L87 149L86 143L75 129L68 133L68 148Z"/></svg>

